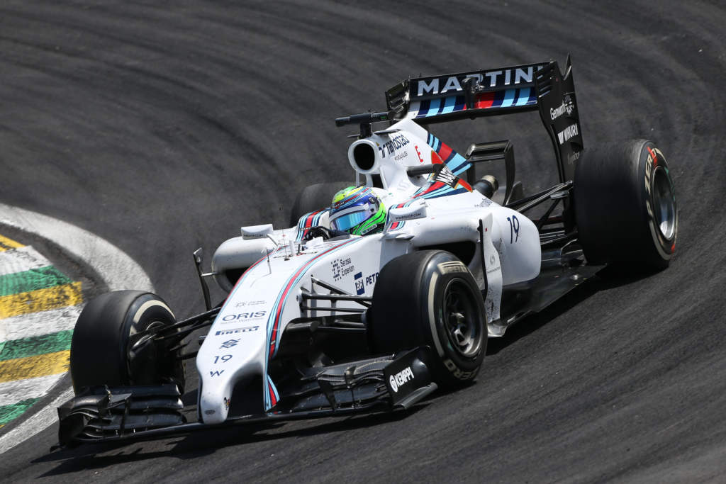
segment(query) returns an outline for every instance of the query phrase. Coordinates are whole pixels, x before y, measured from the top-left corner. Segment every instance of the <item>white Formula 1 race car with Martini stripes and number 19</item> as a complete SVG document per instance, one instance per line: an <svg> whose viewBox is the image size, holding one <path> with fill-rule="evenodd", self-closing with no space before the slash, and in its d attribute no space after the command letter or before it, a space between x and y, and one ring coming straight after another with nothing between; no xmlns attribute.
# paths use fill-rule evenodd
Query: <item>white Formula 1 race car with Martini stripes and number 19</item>
<svg viewBox="0 0 726 484"><path fill-rule="evenodd" d="M409 78L386 102L336 120L360 130L348 160L364 188L331 202L345 186L307 187L290 228L242 227L208 274L195 252L205 312L177 321L139 291L86 305L70 353L76 396L58 409L61 445L408 408L474 380L488 337L607 264L662 269L672 258L677 205L663 153L642 139L585 150L569 59L564 75L550 61ZM461 155L427 128L535 110L559 182L526 197L510 141ZM388 126L375 131L378 122ZM485 163L504 164L503 195L493 176L476 178ZM380 230L351 234L332 214L366 190L380 200L370 210L385 205L386 215ZM210 277L228 293L214 307ZM203 328L200 348L184 353ZM181 402L188 358L196 422Z"/></svg>

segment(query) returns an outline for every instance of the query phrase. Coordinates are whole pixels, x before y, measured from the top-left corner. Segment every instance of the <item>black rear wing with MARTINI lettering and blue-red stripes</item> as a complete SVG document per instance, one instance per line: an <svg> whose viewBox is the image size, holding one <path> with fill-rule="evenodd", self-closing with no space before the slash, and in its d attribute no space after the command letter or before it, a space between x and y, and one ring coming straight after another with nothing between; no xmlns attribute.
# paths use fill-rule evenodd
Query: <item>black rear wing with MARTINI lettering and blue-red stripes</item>
<svg viewBox="0 0 726 484"><path fill-rule="evenodd" d="M409 78L386 91L393 120L419 124L539 110L555 148L560 181L574 179L582 152L570 57L565 74L555 61L493 70Z"/></svg>

